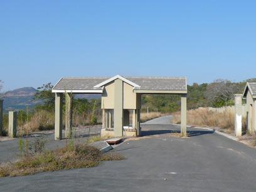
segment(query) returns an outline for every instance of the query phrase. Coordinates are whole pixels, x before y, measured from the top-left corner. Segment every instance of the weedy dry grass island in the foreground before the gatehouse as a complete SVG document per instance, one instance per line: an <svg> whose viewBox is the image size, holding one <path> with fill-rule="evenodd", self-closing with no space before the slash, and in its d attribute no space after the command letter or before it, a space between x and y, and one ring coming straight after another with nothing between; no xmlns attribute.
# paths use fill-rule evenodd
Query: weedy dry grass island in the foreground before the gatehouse
<svg viewBox="0 0 256 192"><path fill-rule="evenodd" d="M119 161L124 159L120 154L100 153L99 149L86 144L68 145L54 151L46 151L23 156L15 163L0 167L0 176L24 176L42 171L63 169L90 168L101 161Z"/></svg>

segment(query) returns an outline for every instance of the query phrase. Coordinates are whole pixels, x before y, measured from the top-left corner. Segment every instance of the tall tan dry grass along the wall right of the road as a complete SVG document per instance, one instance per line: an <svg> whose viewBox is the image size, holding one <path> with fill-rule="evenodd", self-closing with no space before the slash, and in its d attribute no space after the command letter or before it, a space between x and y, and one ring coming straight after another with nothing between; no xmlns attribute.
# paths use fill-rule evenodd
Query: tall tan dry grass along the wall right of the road
<svg viewBox="0 0 256 192"><path fill-rule="evenodd" d="M187 124L193 126L220 127L222 129L234 130L234 118L232 110L217 112L207 108L199 108L188 110L187 112ZM176 124L181 122L180 112L173 114L172 122ZM243 129L245 129L245 118L243 118Z"/></svg>

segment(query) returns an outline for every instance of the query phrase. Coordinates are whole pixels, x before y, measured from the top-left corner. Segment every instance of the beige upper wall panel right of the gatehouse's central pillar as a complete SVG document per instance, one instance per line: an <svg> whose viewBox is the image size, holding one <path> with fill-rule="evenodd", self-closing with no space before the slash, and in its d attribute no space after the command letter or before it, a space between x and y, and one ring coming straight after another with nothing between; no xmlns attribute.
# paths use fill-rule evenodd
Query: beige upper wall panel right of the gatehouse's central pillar
<svg viewBox="0 0 256 192"><path fill-rule="evenodd" d="M136 109L136 93L134 87L124 82L124 109Z"/></svg>

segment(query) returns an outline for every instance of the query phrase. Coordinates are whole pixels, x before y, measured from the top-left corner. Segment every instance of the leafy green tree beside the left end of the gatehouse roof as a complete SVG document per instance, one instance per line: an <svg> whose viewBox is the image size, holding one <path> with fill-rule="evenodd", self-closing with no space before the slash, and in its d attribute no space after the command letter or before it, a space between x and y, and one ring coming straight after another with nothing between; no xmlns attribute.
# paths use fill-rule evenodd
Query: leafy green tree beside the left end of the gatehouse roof
<svg viewBox="0 0 256 192"><path fill-rule="evenodd" d="M38 87L38 92L35 94L35 100L42 100L44 102L43 107L47 110L53 110L55 105L55 93L51 92L53 85L51 83L43 84L42 87Z"/></svg>

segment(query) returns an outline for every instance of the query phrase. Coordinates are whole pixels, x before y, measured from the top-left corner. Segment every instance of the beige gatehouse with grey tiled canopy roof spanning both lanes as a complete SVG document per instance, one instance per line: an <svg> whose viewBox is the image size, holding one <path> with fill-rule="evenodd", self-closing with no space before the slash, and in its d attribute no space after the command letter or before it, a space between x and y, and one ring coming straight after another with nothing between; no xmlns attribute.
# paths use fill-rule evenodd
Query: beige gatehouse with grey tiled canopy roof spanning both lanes
<svg viewBox="0 0 256 192"><path fill-rule="evenodd" d="M73 94L100 94L102 136L140 136L142 94L181 95L181 136L186 136L185 77L61 78L53 87L55 93L55 139L62 136L62 104L66 98L66 137L71 135Z"/></svg>

